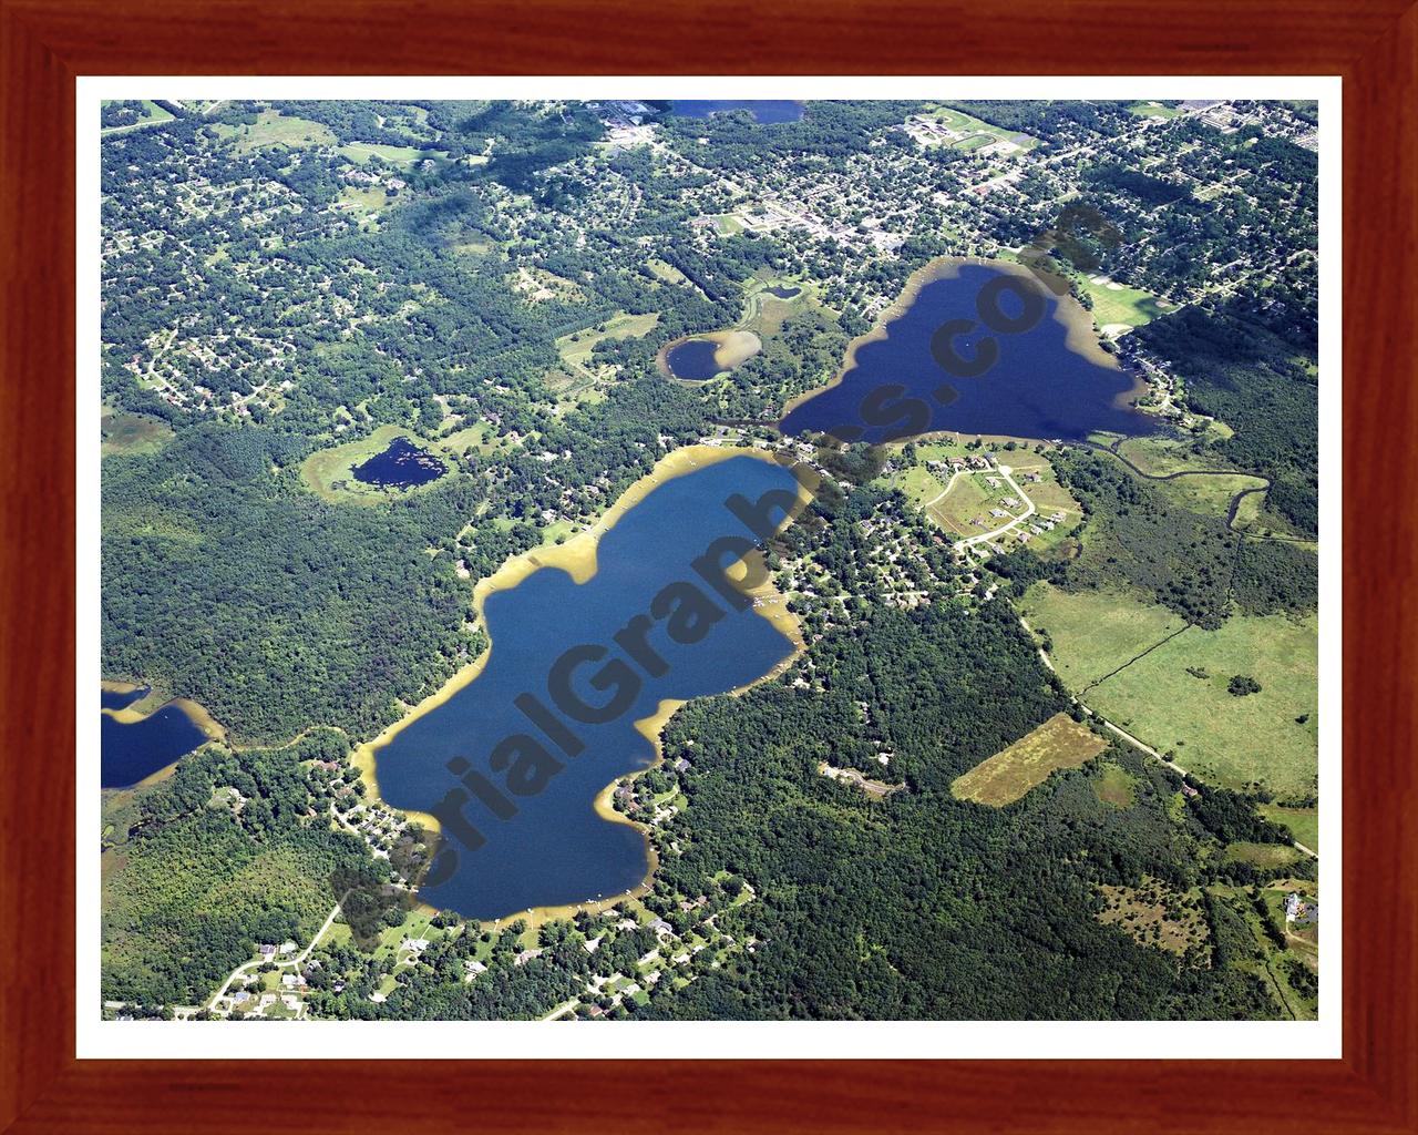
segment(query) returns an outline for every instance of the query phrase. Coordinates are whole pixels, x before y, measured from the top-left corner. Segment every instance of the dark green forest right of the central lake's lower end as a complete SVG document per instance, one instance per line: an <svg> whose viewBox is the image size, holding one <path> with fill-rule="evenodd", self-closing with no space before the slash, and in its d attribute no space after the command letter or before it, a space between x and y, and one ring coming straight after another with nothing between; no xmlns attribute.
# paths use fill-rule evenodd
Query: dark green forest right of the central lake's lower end
<svg viewBox="0 0 1418 1135"><path fill-rule="evenodd" d="M651 1016L1273 1014L1255 978L1095 919L1098 884L1198 881L1190 844L1204 829L1167 819L1170 773L1115 753L1140 783L1123 812L1099 803L1086 770L1000 810L950 796L954 776L1064 704L1004 609L875 610L811 658L831 675L822 698L783 682L671 721L666 752L695 756L693 841L662 864L664 884L695 894L715 873L742 875L767 945L654 997ZM886 802L815 772L854 699L883 724L909 785Z"/></svg>

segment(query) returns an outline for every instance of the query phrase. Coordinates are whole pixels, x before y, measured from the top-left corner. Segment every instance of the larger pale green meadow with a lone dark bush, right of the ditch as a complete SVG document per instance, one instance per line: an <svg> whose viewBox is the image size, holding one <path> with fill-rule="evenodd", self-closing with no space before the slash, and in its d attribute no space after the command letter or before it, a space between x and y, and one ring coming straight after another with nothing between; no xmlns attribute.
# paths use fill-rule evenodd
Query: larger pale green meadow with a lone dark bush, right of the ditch
<svg viewBox="0 0 1418 1135"><path fill-rule="evenodd" d="M1236 674L1255 678L1261 692L1228 692ZM1211 783L1259 785L1286 799L1314 792L1317 697L1314 616L1271 614L1232 616L1219 630L1188 627L1099 682L1086 701Z"/></svg>

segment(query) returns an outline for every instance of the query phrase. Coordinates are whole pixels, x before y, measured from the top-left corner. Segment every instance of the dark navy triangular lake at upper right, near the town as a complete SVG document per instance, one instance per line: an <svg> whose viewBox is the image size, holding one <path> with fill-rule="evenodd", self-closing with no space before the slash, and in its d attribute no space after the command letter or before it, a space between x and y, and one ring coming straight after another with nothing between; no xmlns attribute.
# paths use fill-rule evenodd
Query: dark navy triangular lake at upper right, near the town
<svg viewBox="0 0 1418 1135"><path fill-rule="evenodd" d="M1095 430L1156 433L1154 419L1126 404L1134 387L1129 375L1066 346L1066 329L1054 318L1058 299L1046 288L1035 291L1045 306L1031 328L1005 333L983 323L981 295L995 297L991 312L1022 322L1024 301L1008 289L993 291L991 281L1004 275L967 264L956 278L926 284L906 312L886 323L886 338L859 346L842 382L791 410L783 431L832 431L849 440L841 430L858 427L866 441L881 441L889 431L903 437L934 430L1071 440ZM973 331L947 333L942 326L949 321L963 321L960 326L968 321ZM998 315L994 322L1000 325ZM981 373L964 377L957 363L947 372L933 340L937 352L944 346ZM998 358L981 366L994 350ZM899 396L882 390L893 384L906 390ZM873 394L878 403L868 409ZM919 400L913 417L898 402L908 397Z"/></svg>

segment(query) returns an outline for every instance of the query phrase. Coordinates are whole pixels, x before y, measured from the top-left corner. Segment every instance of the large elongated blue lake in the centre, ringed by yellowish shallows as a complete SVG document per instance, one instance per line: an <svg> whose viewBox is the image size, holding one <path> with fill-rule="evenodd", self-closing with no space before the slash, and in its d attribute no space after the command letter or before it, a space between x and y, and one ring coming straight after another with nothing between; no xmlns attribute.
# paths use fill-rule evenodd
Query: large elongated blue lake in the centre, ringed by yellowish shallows
<svg viewBox="0 0 1418 1135"><path fill-rule="evenodd" d="M657 487L601 536L598 570L586 583L543 568L488 597L492 653L482 672L376 753L384 800L440 817L442 847L421 888L424 901L488 919L610 897L644 880L641 831L603 819L593 802L617 776L654 760L634 722L662 698L733 690L793 651L769 620L752 607L733 609L691 566L715 539L749 533L726 506L730 497L757 502L771 489L791 494L795 482L767 461L733 457L700 467ZM722 576L719 583L726 586ZM627 638L637 617L638 646ZM579 644L586 657L566 681L583 708L621 702L604 724L574 721L559 708L567 697L553 667ZM508 739L522 746L510 768L495 752ZM576 741L584 748L570 756ZM513 792L519 769L537 768L545 775L520 782L523 794ZM475 794L479 776L516 814L496 817L488 797ZM479 838L485 843L476 846Z"/></svg>

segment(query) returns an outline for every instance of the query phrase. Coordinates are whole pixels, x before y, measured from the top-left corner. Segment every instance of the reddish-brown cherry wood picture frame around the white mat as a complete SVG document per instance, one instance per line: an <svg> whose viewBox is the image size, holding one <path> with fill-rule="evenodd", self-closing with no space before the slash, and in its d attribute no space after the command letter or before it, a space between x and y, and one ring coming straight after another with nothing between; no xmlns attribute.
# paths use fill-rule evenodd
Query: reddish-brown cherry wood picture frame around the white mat
<svg viewBox="0 0 1418 1135"><path fill-rule="evenodd" d="M0 1131L1418 1131L1409 4L0 0ZM1343 75L1341 1060L75 1060L75 75L676 72Z"/></svg>

